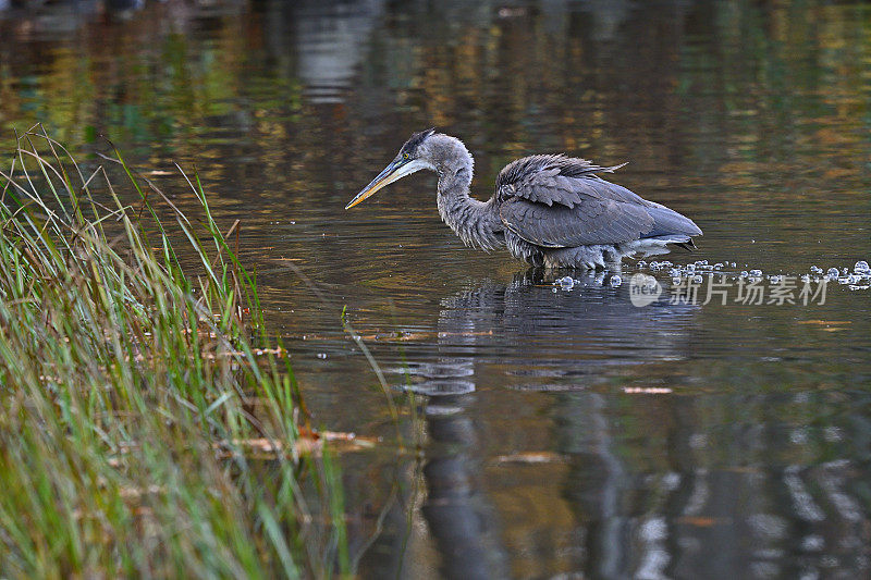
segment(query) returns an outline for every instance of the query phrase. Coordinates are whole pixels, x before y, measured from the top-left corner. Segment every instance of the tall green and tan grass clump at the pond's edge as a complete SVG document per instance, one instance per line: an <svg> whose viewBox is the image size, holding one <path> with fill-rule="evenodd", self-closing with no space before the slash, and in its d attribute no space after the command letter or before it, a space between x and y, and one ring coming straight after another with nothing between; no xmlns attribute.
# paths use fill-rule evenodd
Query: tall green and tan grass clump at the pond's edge
<svg viewBox="0 0 871 580"><path fill-rule="evenodd" d="M195 225L112 157L34 127L0 172L0 575L345 571L334 466L199 180Z"/></svg>

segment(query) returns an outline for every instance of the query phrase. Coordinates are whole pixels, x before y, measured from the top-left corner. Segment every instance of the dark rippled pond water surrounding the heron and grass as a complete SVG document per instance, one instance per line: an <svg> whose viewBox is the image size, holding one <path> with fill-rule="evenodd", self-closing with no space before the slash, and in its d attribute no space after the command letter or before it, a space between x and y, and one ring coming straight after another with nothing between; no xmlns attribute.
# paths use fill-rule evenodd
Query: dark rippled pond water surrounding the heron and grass
<svg viewBox="0 0 871 580"><path fill-rule="evenodd" d="M868 5L8 4L5 143L36 121L83 155L111 136L181 205L162 172L196 164L219 221L243 221L316 422L383 437L342 456L360 576L871 575L871 291L802 304L796 277L797 304L743 304L731 276L702 304L703 277L670 304L667 266L554 286L463 247L432 175L343 209L437 125L479 197L523 155L630 161L616 182L704 231L676 264L852 269L871 260ZM639 271L653 305L630 301Z"/></svg>

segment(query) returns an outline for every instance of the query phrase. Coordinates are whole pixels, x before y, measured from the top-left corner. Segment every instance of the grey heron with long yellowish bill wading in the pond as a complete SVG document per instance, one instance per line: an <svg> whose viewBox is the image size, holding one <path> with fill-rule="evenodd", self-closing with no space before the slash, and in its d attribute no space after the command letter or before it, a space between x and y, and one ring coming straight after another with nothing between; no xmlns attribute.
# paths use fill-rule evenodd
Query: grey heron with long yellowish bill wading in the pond
<svg viewBox="0 0 871 580"><path fill-rule="evenodd" d="M507 246L515 258L545 268L619 268L626 256L665 254L666 244L695 247L701 230L665 206L648 201L597 174L603 168L564 155L508 163L488 201L469 197L471 155L456 137L415 133L345 209L421 169L439 175L439 213L467 246Z"/></svg>

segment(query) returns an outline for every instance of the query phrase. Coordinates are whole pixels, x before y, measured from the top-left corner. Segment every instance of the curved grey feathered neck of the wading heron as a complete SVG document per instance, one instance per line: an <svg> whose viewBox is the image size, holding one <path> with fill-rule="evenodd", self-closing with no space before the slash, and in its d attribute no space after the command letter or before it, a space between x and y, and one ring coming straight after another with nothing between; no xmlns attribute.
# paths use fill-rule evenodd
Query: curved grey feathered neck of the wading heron
<svg viewBox="0 0 871 580"><path fill-rule="evenodd" d="M433 135L431 156L439 174L439 213L467 246L484 250L502 245L502 222L492 200L469 196L475 161L463 141L447 135Z"/></svg>

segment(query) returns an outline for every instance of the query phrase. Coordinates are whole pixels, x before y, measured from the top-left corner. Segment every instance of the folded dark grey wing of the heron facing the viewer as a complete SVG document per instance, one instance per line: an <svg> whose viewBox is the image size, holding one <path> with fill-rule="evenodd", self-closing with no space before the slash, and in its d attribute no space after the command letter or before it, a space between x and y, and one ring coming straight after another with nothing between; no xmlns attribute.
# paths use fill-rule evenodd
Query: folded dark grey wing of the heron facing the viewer
<svg viewBox="0 0 871 580"><path fill-rule="evenodd" d="M564 156L517 160L496 180L500 218L527 242L553 248L701 234L688 218L594 174L613 169Z"/></svg>

